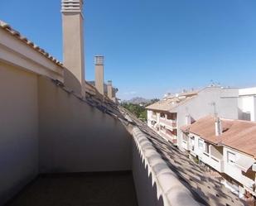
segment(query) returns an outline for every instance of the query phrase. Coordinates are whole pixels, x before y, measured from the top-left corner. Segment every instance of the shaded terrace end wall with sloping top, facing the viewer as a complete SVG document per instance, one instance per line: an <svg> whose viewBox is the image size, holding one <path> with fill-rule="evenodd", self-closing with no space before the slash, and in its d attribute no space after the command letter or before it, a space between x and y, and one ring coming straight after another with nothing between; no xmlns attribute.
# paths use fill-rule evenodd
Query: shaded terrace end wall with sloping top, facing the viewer
<svg viewBox="0 0 256 206"><path fill-rule="evenodd" d="M39 78L40 172L131 170L132 138L114 117Z"/></svg>

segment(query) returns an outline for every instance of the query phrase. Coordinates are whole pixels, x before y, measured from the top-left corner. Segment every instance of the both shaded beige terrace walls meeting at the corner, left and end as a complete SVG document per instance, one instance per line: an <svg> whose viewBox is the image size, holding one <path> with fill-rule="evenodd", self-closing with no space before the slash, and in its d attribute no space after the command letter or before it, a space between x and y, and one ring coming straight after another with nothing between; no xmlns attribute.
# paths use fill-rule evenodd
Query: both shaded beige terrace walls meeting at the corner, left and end
<svg viewBox="0 0 256 206"><path fill-rule="evenodd" d="M131 170L123 124L0 61L0 205L40 173Z"/></svg>

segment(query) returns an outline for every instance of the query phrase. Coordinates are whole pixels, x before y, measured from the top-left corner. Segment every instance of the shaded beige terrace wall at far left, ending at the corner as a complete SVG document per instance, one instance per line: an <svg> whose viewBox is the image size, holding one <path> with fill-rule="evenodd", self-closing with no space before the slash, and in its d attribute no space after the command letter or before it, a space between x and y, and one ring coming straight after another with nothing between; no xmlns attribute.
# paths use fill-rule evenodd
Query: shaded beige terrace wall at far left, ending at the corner
<svg viewBox="0 0 256 206"><path fill-rule="evenodd" d="M38 175L37 76L0 62L0 205Z"/></svg>

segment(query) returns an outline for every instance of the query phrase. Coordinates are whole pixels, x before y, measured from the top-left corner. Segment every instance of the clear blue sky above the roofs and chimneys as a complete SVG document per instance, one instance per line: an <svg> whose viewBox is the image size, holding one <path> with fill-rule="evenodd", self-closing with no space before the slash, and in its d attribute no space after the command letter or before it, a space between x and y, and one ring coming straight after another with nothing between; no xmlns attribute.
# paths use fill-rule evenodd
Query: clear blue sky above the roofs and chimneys
<svg viewBox="0 0 256 206"><path fill-rule="evenodd" d="M85 79L105 55L119 98L256 86L255 0L85 0ZM0 19L62 60L60 0L1 0Z"/></svg>

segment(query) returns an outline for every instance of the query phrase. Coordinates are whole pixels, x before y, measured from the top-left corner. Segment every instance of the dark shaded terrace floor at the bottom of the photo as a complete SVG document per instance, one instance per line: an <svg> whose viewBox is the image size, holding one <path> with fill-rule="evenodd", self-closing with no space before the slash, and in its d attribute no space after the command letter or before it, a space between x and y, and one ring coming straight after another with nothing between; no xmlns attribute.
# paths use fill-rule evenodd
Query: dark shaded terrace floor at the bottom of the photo
<svg viewBox="0 0 256 206"><path fill-rule="evenodd" d="M138 206L129 172L41 175L7 206Z"/></svg>

